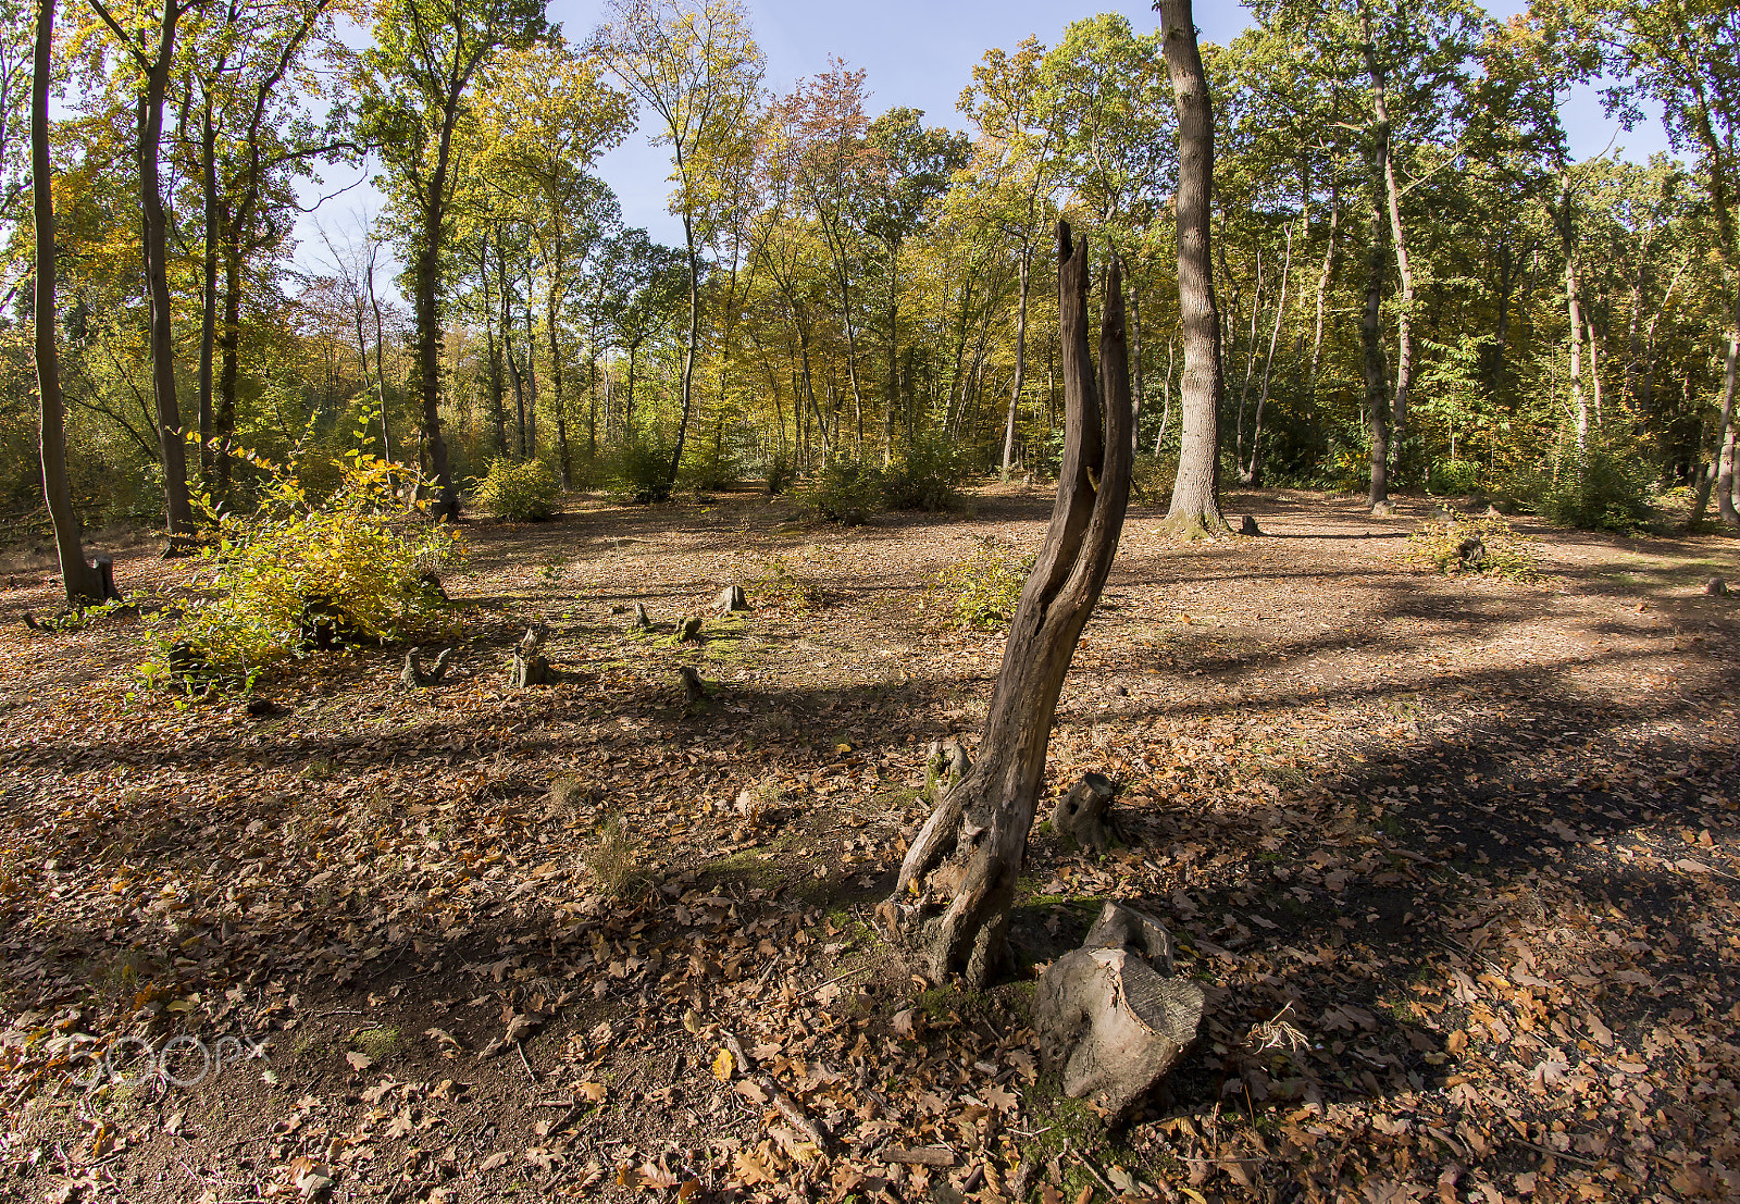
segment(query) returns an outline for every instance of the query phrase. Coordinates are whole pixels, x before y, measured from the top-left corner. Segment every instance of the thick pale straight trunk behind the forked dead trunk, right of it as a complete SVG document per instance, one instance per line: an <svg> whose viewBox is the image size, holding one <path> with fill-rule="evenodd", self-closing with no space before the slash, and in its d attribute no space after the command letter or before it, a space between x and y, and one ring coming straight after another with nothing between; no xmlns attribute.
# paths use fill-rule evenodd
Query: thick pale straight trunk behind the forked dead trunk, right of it
<svg viewBox="0 0 1740 1204"><path fill-rule="evenodd" d="M1174 534L1228 531L1220 513L1220 315L1209 247L1215 181L1215 113L1197 50L1190 0L1161 0L1166 70L1178 106L1178 310L1185 374L1180 386L1183 438L1166 525Z"/></svg>

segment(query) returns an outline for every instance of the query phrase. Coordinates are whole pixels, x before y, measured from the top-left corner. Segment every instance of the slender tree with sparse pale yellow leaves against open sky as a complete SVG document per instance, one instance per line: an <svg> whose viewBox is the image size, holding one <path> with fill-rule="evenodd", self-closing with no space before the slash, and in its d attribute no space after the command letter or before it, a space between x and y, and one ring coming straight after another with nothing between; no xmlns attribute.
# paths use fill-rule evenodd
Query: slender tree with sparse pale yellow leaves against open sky
<svg viewBox="0 0 1740 1204"><path fill-rule="evenodd" d="M701 341L701 258L698 221L705 204L708 150L733 141L746 118L766 66L740 0L611 0L593 49L659 120L656 143L672 150L672 212L682 217L689 254L689 334L682 357L682 414L670 456L677 482L682 444L694 411L694 362Z"/></svg>

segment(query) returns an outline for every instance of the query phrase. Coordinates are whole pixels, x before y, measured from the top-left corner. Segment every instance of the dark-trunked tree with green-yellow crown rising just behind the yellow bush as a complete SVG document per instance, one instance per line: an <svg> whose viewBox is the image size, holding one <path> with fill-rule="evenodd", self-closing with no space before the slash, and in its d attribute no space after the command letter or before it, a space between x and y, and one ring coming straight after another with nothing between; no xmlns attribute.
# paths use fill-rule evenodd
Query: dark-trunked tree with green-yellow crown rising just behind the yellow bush
<svg viewBox="0 0 1740 1204"><path fill-rule="evenodd" d="M381 155L390 197L405 217L416 386L440 518L459 517L459 489L440 426L442 251L458 183L454 132L489 57L505 47L527 47L548 28L545 0L383 0L374 45L362 56L362 129Z"/></svg>

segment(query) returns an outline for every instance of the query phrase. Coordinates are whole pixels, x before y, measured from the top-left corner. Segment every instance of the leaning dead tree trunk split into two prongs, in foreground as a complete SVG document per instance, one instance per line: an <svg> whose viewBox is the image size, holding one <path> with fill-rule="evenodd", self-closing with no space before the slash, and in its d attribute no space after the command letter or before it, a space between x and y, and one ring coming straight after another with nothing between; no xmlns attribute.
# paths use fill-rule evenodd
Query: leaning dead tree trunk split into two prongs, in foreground
<svg viewBox="0 0 1740 1204"><path fill-rule="evenodd" d="M1088 348L1088 247L1058 223L1065 438L1058 501L1004 645L978 760L919 832L884 922L922 950L931 978L980 987L1007 957L1009 906L1034 826L1053 712L1075 644L1117 555L1129 501L1129 365L1122 264L1107 275L1101 385Z"/></svg>

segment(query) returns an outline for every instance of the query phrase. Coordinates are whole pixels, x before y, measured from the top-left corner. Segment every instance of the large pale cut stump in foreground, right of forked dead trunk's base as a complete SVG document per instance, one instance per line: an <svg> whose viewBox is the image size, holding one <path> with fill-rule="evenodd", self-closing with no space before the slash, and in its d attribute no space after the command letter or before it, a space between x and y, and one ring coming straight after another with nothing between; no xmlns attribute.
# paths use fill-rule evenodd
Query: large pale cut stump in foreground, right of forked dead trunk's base
<svg viewBox="0 0 1740 1204"><path fill-rule="evenodd" d="M1063 1093L1121 1117L1183 1058L1202 1002L1201 987L1173 976L1161 922L1107 903L1084 945L1041 974L1034 1027Z"/></svg>

